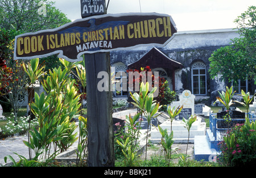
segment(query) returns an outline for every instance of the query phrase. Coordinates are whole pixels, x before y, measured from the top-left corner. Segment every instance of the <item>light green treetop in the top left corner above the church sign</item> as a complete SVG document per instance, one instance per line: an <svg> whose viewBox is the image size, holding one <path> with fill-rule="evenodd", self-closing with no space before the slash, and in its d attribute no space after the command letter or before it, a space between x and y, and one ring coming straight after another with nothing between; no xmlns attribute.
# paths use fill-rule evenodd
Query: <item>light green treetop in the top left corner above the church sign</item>
<svg viewBox="0 0 256 178"><path fill-rule="evenodd" d="M36 32L71 22L63 12L47 0L0 1L0 27L16 31Z"/></svg>

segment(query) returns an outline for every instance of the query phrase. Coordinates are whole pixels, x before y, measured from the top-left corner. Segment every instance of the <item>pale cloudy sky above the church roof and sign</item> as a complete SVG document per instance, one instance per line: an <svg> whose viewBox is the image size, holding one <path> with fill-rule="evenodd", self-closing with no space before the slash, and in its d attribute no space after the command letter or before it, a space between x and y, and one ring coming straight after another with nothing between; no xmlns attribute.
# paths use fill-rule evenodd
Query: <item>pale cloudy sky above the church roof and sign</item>
<svg viewBox="0 0 256 178"><path fill-rule="evenodd" d="M80 0L51 0L71 20L81 19ZM109 0L106 0L108 3ZM157 12L171 15L177 31L236 28L234 20L255 0L110 0L107 13Z"/></svg>

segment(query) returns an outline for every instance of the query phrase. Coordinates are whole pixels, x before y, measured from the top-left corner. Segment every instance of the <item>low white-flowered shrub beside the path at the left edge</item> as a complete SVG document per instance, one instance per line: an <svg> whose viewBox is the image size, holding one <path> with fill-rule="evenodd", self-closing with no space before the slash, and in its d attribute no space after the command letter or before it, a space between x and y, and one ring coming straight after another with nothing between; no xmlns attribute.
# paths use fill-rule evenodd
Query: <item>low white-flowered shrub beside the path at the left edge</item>
<svg viewBox="0 0 256 178"><path fill-rule="evenodd" d="M15 121L11 121L11 117L15 117L14 113L11 113L10 117L7 117L7 124L5 125L4 128L0 128L0 138L5 138L10 135L14 134L24 134L28 130L28 121L30 120L30 116L27 117L20 117L18 119L18 124L16 124ZM30 126L37 127L38 126L38 120L34 119L30 121Z"/></svg>

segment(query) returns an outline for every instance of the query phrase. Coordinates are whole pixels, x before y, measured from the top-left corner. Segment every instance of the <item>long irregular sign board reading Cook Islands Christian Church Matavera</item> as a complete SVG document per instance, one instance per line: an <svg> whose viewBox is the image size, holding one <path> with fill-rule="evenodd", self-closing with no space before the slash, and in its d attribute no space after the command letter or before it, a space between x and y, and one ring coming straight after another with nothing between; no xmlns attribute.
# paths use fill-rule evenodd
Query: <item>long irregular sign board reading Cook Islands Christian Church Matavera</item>
<svg viewBox="0 0 256 178"><path fill-rule="evenodd" d="M55 29L15 37L14 60L52 54L81 61L82 54L110 52L138 46L164 46L176 33L170 15L156 13L106 14L78 19Z"/></svg>

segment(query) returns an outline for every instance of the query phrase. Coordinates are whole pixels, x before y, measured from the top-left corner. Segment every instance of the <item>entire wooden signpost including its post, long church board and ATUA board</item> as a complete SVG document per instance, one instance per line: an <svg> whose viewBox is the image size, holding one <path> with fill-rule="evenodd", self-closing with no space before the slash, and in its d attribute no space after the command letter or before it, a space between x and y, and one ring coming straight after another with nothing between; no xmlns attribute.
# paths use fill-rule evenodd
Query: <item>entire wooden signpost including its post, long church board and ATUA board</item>
<svg viewBox="0 0 256 178"><path fill-rule="evenodd" d="M139 46L165 46L177 32L170 15L157 13L106 14L105 0L81 0L81 16L55 29L15 37L14 60L58 54L81 61L85 54L88 103L88 166L114 166L110 54ZM108 74L108 78L98 76ZM108 88L98 90L102 83Z"/></svg>

